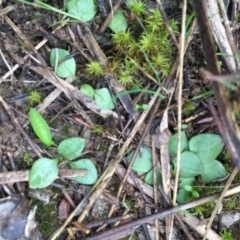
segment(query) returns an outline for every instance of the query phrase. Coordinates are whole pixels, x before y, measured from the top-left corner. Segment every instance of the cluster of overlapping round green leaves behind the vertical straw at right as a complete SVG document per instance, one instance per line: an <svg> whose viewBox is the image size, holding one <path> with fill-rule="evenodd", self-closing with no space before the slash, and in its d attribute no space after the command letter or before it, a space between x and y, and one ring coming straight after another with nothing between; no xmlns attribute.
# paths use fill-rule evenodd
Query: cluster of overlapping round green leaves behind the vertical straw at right
<svg viewBox="0 0 240 240"><path fill-rule="evenodd" d="M196 176L201 176L205 183L226 177L226 169L216 159L222 149L223 142L219 135L198 134L188 141L185 132L181 133L180 190L177 196L179 203L191 199L192 191L189 191L189 186L195 182ZM177 134L169 140L169 154L175 171Z"/></svg>

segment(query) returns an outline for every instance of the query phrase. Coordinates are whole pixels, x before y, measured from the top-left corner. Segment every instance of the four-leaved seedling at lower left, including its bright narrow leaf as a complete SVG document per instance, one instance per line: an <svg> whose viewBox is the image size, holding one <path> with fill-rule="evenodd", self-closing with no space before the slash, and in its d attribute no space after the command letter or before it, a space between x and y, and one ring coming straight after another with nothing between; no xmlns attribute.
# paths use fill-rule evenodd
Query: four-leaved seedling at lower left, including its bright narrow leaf
<svg viewBox="0 0 240 240"><path fill-rule="evenodd" d="M29 111L31 126L38 138L47 146L52 145L52 135L46 120L35 109ZM58 146L58 153L61 157L68 160L72 169L82 169L86 171L85 175L78 176L75 180L81 184L93 184L97 180L97 169L94 163L89 159L77 159L85 146L83 138L68 138L63 140ZM37 159L29 173L30 188L45 188L52 184L58 176L58 162L61 157L54 159ZM77 160L76 160L77 159Z"/></svg>

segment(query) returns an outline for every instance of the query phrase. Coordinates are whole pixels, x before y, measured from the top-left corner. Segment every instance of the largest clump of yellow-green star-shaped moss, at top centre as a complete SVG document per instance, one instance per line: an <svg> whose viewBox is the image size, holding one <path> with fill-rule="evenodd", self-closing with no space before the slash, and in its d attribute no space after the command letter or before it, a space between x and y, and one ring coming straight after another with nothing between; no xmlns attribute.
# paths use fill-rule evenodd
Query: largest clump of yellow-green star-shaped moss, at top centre
<svg viewBox="0 0 240 240"><path fill-rule="evenodd" d="M132 33L128 30L113 34L117 50L113 61L118 62L118 78L125 86L135 86L139 69L166 77L173 63L174 47L159 11L151 10L142 19L145 28L142 32ZM171 20L170 24L173 31L177 32L176 22Z"/></svg>

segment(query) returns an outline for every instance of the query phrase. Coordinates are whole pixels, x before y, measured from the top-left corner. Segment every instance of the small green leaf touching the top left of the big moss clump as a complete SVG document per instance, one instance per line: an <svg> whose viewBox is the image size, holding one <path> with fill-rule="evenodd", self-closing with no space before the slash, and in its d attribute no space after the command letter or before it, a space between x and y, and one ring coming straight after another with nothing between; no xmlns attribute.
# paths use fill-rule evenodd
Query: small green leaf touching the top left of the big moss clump
<svg viewBox="0 0 240 240"><path fill-rule="evenodd" d="M127 19L121 9L117 10L113 15L108 27L115 33L125 32L128 27Z"/></svg>

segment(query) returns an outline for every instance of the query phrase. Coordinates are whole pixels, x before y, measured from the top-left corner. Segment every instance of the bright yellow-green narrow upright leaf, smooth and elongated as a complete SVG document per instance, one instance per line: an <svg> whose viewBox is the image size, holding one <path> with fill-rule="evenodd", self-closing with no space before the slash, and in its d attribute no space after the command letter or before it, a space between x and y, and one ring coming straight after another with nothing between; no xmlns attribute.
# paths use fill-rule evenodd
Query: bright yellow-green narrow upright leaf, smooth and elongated
<svg viewBox="0 0 240 240"><path fill-rule="evenodd" d="M36 133L38 138L47 146L52 145L52 135L49 129L49 126L42 115L35 110L34 108L30 108L29 111L29 119L33 131Z"/></svg>

